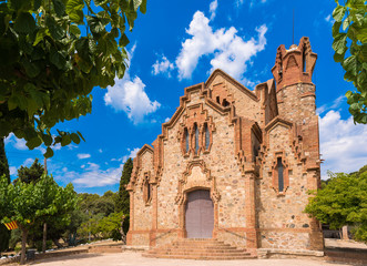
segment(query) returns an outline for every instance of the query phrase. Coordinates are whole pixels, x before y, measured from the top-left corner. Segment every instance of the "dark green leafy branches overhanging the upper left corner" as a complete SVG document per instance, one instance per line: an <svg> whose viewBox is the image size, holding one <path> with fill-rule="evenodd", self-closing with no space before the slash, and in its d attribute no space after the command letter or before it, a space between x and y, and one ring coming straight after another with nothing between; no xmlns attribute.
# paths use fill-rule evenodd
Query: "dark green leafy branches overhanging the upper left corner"
<svg viewBox="0 0 367 266"><path fill-rule="evenodd" d="M83 139L53 129L91 113L94 86L106 88L126 68L125 31L146 0L0 1L0 137L13 133L44 154Z"/></svg>

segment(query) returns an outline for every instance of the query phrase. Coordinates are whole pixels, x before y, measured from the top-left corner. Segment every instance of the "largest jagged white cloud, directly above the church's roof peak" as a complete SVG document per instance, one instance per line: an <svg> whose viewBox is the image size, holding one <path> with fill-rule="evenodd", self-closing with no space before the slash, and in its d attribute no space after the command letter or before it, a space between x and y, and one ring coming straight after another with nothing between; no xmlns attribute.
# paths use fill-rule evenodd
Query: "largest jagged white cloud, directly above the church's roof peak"
<svg viewBox="0 0 367 266"><path fill-rule="evenodd" d="M190 79L198 60L203 55L207 55L212 57L211 71L221 68L233 78L243 80L243 74L251 58L265 48L266 25L263 24L255 29L257 40L251 38L245 41L242 37L237 35L237 30L234 27L227 30L222 28L213 31L208 23L210 20L203 12L195 12L186 30L191 38L182 43L182 49L176 58L179 79Z"/></svg>

